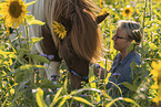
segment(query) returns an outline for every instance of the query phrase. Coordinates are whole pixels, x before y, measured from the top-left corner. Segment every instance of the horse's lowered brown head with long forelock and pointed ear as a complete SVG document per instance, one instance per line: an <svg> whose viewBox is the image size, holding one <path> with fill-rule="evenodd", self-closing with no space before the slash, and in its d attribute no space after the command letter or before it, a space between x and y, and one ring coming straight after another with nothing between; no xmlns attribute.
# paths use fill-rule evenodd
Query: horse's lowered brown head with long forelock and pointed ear
<svg viewBox="0 0 161 107"><path fill-rule="evenodd" d="M72 89L81 87L81 81L88 82L90 62L100 52L100 35L98 24L102 22L109 13L99 15L95 19L85 11L81 18L76 12L60 22L67 28L67 35L60 40L60 56L68 65Z"/></svg>

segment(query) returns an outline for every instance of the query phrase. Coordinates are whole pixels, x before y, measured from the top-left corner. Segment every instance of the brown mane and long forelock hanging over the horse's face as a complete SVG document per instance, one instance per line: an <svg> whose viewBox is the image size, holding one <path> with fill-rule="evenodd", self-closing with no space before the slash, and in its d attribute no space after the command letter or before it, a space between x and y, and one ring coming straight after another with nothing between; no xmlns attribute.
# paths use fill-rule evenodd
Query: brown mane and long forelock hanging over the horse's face
<svg viewBox="0 0 161 107"><path fill-rule="evenodd" d="M94 15L94 6L89 0L57 0L53 19L70 19L73 50L88 61L100 56L101 39Z"/></svg>

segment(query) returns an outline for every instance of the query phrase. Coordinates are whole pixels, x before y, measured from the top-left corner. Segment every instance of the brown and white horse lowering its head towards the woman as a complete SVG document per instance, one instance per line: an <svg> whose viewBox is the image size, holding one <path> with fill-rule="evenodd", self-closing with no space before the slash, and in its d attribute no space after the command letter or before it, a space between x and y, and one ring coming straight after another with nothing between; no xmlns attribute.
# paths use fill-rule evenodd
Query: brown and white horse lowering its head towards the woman
<svg viewBox="0 0 161 107"><path fill-rule="evenodd" d="M109 13L95 15L95 6L89 0L37 0L31 7L36 19L46 22L44 25L32 25L31 36L42 36L36 43L32 53L53 56L47 64L47 77L57 78L59 66L64 60L69 71L72 89L81 87L81 82L88 82L89 65L100 56L101 36L98 24ZM63 39L53 30L53 21L66 28Z"/></svg>

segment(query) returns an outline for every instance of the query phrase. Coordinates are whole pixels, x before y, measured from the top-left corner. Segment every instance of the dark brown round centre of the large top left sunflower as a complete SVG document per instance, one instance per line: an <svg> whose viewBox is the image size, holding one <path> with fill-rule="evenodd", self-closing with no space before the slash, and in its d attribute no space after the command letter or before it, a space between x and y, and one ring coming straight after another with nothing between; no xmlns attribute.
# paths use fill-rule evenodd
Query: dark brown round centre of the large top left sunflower
<svg viewBox="0 0 161 107"><path fill-rule="evenodd" d="M22 12L22 7L18 1L13 1L9 6L9 13L12 18L19 18Z"/></svg>

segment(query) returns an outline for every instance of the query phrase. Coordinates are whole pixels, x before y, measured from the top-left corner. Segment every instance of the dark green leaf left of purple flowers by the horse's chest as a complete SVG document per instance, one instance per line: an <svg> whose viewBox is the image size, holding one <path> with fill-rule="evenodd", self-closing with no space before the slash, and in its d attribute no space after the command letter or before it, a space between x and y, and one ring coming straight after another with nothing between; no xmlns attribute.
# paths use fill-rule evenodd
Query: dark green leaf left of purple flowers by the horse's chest
<svg viewBox="0 0 161 107"><path fill-rule="evenodd" d="M34 60L37 63L50 63L49 60L47 57L40 56L40 55L31 55L31 58Z"/></svg>

